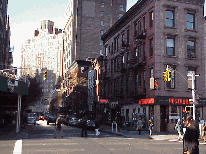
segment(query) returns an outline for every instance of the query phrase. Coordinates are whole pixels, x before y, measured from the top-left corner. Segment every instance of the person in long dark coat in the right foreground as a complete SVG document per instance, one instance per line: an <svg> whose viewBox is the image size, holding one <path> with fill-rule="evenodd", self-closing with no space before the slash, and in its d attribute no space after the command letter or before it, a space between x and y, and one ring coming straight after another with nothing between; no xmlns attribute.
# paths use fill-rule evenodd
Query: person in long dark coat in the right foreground
<svg viewBox="0 0 206 154"><path fill-rule="evenodd" d="M185 122L185 135L183 138L183 153L199 154L199 126L198 122L189 115Z"/></svg>

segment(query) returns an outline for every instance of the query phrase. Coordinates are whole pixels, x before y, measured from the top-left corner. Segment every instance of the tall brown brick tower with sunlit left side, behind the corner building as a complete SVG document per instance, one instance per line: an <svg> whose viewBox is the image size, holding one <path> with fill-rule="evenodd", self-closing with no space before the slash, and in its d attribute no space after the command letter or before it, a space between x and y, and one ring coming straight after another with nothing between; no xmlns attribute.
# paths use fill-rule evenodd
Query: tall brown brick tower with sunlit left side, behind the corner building
<svg viewBox="0 0 206 154"><path fill-rule="evenodd" d="M126 0L69 0L65 11L63 83L69 83L68 67L75 60L103 54L101 35L125 12ZM62 93L66 91L62 89Z"/></svg>

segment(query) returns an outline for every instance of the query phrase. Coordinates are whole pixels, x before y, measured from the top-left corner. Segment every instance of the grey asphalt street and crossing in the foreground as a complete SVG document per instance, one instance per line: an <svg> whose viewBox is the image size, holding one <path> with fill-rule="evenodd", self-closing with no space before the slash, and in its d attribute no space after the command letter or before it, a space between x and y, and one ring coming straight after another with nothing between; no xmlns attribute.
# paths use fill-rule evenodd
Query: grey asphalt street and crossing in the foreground
<svg viewBox="0 0 206 154"><path fill-rule="evenodd" d="M37 125L27 125L21 135L7 133L1 137L1 154L13 153L15 143L17 151L22 154L177 154L182 153L182 142L169 142L163 140L148 140L143 138L126 138L101 132L99 137L95 131L88 130L88 137L81 136L81 128L73 126L62 126L63 138L57 134L54 138L55 125L47 125L46 121L39 121ZM28 135L27 135L28 134ZM2 133L1 133L2 135ZM10 136L9 136L10 135ZM19 143L21 145L19 145ZM22 147L22 148L21 148ZM16 152L17 152L16 151ZM200 145L200 154L206 153L206 146Z"/></svg>

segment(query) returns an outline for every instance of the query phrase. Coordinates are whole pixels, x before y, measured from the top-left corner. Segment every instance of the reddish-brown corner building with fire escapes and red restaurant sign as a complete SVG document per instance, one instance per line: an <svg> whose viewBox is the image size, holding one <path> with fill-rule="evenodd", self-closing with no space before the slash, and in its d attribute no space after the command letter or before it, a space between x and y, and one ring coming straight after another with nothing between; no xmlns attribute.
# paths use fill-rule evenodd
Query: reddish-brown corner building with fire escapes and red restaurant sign
<svg viewBox="0 0 206 154"><path fill-rule="evenodd" d="M196 117L206 118L203 6L203 0L138 1L104 33L102 97L112 120L131 122L143 113L144 128L151 118L154 131L174 131L192 98L189 73L203 74L195 78ZM170 82L163 81L167 66Z"/></svg>

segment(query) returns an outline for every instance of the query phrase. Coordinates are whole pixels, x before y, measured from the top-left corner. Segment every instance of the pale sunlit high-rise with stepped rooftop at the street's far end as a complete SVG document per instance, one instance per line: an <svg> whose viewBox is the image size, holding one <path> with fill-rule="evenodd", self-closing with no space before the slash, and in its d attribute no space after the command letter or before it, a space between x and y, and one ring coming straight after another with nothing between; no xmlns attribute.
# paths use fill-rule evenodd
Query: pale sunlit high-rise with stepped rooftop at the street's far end
<svg viewBox="0 0 206 154"><path fill-rule="evenodd" d="M22 46L21 76L39 76L42 82L43 98L51 101L52 92L62 74L63 33L54 28L54 22L41 21L40 29L35 30L34 37L26 40ZM43 73L47 71L47 80Z"/></svg>

